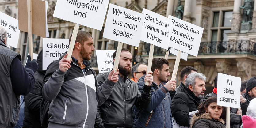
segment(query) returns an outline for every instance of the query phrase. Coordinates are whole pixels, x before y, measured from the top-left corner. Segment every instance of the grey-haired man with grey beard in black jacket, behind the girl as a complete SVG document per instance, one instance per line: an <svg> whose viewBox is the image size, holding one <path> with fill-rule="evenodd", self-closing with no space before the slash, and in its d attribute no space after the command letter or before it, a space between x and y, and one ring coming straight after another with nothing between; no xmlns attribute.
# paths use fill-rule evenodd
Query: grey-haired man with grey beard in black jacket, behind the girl
<svg viewBox="0 0 256 128"><path fill-rule="evenodd" d="M202 73L188 75L182 92L177 93L171 102L174 119L180 126L189 126L192 117L189 112L196 111L200 100L204 98L206 77Z"/></svg>

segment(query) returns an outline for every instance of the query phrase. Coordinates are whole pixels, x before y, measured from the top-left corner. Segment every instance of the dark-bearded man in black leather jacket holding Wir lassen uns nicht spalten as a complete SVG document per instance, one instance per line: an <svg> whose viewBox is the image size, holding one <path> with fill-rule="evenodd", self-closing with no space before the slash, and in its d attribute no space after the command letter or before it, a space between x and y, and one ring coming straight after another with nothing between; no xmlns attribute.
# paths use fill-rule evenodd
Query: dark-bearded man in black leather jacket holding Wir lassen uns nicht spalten
<svg viewBox="0 0 256 128"><path fill-rule="evenodd" d="M115 56L116 51L113 53L113 58ZM100 115L98 114L96 117L95 127L132 127L133 105L141 110L147 109L151 100L152 72L149 72L144 79L149 82L150 86L144 85L141 93L137 84L127 77L131 73L131 66L132 54L128 49L123 48L118 65L119 79L117 83L109 81L110 72L97 75L99 84L97 101ZM102 85L103 83L108 84Z"/></svg>

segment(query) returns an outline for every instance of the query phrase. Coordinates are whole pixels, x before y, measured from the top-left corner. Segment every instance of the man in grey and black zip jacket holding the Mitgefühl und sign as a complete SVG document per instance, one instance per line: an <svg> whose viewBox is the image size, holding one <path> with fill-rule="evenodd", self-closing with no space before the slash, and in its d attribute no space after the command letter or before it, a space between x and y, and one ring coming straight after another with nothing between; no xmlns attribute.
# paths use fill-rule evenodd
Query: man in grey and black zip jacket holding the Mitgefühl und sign
<svg viewBox="0 0 256 128"><path fill-rule="evenodd" d="M41 90L43 98L52 101L48 128L94 126L98 105L97 79L89 62L94 50L90 33L78 31L71 60L66 58L66 54L48 66ZM116 82L117 74L109 81Z"/></svg>

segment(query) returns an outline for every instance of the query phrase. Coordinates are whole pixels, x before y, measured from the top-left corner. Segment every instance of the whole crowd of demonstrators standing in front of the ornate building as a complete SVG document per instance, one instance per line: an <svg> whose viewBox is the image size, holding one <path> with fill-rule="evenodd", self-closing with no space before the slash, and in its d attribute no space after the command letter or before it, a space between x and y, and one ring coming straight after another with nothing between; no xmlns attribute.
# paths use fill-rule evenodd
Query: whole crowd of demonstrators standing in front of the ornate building
<svg viewBox="0 0 256 128"><path fill-rule="evenodd" d="M172 117L180 126L226 127L226 107L216 104L217 77L213 92L204 96L207 78L196 68L184 67L176 88L175 80L168 81L166 59L154 58L147 73L145 63L132 68L132 54L122 48L117 72L96 75L89 62L94 42L81 30L70 60L65 53L42 70L40 51L37 60L28 55L24 68L6 36L0 27L0 128L172 128ZM256 127L255 97L256 77L242 81L241 108L231 108L232 128Z"/></svg>

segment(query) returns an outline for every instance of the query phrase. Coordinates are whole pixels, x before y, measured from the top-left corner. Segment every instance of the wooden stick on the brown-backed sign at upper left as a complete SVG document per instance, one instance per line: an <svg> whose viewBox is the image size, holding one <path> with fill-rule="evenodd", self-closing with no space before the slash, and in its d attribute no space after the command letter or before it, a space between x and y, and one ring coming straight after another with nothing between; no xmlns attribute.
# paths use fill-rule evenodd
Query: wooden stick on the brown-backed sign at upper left
<svg viewBox="0 0 256 128"><path fill-rule="evenodd" d="M33 60L33 34L32 34L32 0L27 0L28 2L28 36L29 36L29 55L31 61Z"/></svg>

